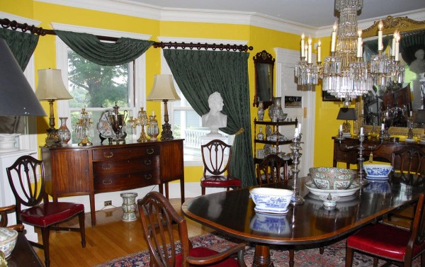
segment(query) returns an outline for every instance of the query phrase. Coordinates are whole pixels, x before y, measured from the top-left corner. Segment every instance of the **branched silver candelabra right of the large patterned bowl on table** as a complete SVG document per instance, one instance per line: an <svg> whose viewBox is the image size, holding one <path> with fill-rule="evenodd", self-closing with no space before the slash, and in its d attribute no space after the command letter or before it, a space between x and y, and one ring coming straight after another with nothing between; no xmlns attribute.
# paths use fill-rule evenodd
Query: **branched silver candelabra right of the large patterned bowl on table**
<svg viewBox="0 0 425 267"><path fill-rule="evenodd" d="M342 131L339 130L339 137L336 138L336 140L339 140L339 149L342 151L349 151L349 150L353 150L353 149L358 149L358 183L360 183L362 186L366 186L368 185L369 181L367 179L365 179L365 174L363 171L363 161L365 161L365 158L363 157L363 151L366 149L370 150L370 152L374 151L375 149L378 149L378 147L380 147L380 145L382 144L382 142L384 141L384 130L381 130L381 135L380 135L380 142L379 144L375 144L373 146L367 146L365 147L365 145L363 144L363 142L365 141L365 135L363 134L363 127L361 127L360 129L360 135L358 135L358 142L359 144L353 145L353 146L347 146L345 145L344 147L341 147L341 141L344 140L344 137L342 136Z"/></svg>

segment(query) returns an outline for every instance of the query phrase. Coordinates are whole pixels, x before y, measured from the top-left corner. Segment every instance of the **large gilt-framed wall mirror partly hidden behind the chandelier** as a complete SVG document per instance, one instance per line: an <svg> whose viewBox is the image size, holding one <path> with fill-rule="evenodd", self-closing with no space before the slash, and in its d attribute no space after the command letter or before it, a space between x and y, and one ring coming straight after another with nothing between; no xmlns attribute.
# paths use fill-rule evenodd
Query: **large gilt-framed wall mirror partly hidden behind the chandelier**
<svg viewBox="0 0 425 267"><path fill-rule="evenodd" d="M363 30L363 56L366 61L377 54L376 42L380 21L375 21ZM422 127L416 120L418 110L425 108L425 21L414 21L407 17L388 16L382 20L385 53L391 57L394 47L393 36L399 34L399 66L404 67L404 81L373 88L358 102L358 125L377 125L383 118L392 120L392 134L407 135L407 127ZM396 57L396 58L397 58ZM424 130L416 130L424 135Z"/></svg>

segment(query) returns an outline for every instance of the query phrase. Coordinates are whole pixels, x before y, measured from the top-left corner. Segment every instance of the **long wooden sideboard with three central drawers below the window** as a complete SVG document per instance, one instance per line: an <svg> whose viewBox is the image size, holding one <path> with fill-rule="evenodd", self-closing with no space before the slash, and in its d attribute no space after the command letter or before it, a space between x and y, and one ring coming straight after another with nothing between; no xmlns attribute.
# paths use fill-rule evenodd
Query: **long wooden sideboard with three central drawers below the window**
<svg viewBox="0 0 425 267"><path fill-rule="evenodd" d="M184 202L183 140L91 147L42 147L46 191L57 198L89 195L91 224L96 225L94 195L159 185L169 197L169 181L180 180Z"/></svg>

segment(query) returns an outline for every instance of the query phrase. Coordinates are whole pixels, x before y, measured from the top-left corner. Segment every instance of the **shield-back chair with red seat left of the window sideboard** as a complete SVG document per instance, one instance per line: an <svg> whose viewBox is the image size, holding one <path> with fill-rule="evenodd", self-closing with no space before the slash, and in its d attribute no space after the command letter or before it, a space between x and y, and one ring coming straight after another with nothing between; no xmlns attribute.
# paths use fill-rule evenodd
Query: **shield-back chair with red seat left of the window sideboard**
<svg viewBox="0 0 425 267"><path fill-rule="evenodd" d="M42 161L30 156L16 159L6 168L8 181L16 199L16 221L40 227L42 244L30 242L44 250L45 266L50 266L50 229L78 231L81 245L86 246L84 229L84 205L68 202L49 202L45 192L45 171ZM58 224L75 216L79 218L79 228L59 227Z"/></svg>

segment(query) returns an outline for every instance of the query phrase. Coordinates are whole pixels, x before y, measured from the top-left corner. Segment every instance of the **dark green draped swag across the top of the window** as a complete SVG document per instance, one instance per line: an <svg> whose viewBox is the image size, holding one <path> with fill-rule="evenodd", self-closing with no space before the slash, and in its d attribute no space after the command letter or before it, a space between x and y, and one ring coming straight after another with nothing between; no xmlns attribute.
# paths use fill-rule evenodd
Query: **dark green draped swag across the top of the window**
<svg viewBox="0 0 425 267"><path fill-rule="evenodd" d="M119 38L116 42L101 42L89 33L55 30L59 38L81 57L103 66L132 62L154 44L154 41Z"/></svg>

